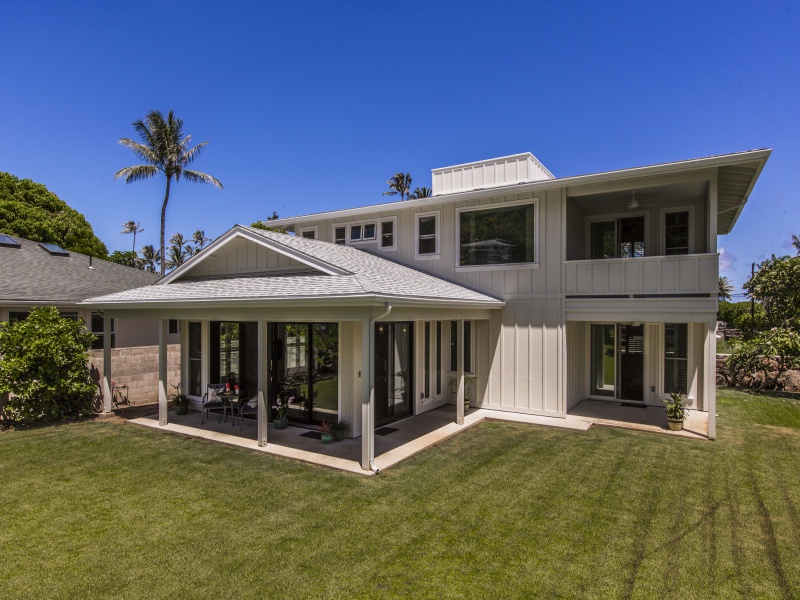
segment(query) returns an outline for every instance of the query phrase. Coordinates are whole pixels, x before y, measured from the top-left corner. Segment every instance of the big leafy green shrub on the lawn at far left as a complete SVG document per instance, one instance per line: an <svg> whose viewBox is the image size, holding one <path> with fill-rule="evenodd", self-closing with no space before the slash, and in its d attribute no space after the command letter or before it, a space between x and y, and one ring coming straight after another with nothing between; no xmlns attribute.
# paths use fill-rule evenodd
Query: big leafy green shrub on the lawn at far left
<svg viewBox="0 0 800 600"><path fill-rule="evenodd" d="M82 321L62 318L53 306L0 327L0 393L6 412L24 423L92 413L97 390L87 350L95 337Z"/></svg>

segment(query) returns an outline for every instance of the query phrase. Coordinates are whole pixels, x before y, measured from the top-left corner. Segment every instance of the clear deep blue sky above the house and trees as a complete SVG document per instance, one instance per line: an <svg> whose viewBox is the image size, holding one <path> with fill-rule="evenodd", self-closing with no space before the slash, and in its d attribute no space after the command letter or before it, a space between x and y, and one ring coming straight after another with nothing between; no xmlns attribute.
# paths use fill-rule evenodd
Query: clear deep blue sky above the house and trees
<svg viewBox="0 0 800 600"><path fill-rule="evenodd" d="M110 250L163 180L125 185L120 137L170 108L223 191L173 187L167 234L387 201L396 171L533 152L556 176L774 152L723 274L800 233L792 2L8 2L0 170L44 183Z"/></svg>

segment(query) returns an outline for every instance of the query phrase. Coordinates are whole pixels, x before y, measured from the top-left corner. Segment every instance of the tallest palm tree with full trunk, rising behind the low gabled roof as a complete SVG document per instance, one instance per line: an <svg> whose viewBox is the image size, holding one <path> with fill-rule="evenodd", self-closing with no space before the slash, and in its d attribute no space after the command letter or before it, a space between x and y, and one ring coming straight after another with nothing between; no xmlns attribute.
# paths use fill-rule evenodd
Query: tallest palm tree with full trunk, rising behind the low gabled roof
<svg viewBox="0 0 800 600"><path fill-rule="evenodd" d="M163 173L167 178L167 189L164 193L164 203L161 205L161 256L164 253L164 228L166 225L167 202L169 202L169 189L172 179L180 181L181 177L194 183L210 183L222 189L218 179L194 171L187 167L198 157L208 142L200 142L194 148L189 147L191 135L183 136L183 119L176 119L169 111L166 120L160 111L151 110L145 120L137 119L132 123L133 128L142 140L134 142L129 138L120 138L119 143L130 150L147 164L126 167L114 175L114 179L125 179L125 183L132 183L149 179L158 173ZM166 261L165 261L166 262ZM161 263L161 274L164 274L165 264Z"/></svg>

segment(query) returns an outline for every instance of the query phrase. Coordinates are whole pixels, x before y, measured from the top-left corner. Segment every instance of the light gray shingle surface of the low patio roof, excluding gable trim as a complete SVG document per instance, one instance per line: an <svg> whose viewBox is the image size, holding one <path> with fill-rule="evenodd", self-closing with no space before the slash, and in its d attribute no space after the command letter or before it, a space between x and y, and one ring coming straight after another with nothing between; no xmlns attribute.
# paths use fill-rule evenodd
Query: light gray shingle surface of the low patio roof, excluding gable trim
<svg viewBox="0 0 800 600"><path fill-rule="evenodd" d="M320 271L182 279L91 298L90 303L149 303L192 300L280 300L293 298L394 297L502 306L503 302L470 288L423 273L369 252L300 236L237 226L243 232L279 244L295 256L324 262L342 275ZM185 265L190 271L191 261Z"/></svg>

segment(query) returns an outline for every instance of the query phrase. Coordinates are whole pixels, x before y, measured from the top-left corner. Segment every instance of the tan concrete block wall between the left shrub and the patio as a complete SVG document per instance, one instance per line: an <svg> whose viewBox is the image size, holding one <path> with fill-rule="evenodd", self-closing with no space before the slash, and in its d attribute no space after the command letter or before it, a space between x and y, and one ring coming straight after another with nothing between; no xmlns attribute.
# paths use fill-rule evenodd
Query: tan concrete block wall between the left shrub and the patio
<svg viewBox="0 0 800 600"><path fill-rule="evenodd" d="M103 377L103 351L90 350L89 369L101 389ZM128 386L131 404L158 402L158 346L133 346L111 350L111 380ZM167 346L167 393L181 380L181 346ZM99 395L102 395L98 391Z"/></svg>

